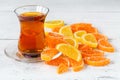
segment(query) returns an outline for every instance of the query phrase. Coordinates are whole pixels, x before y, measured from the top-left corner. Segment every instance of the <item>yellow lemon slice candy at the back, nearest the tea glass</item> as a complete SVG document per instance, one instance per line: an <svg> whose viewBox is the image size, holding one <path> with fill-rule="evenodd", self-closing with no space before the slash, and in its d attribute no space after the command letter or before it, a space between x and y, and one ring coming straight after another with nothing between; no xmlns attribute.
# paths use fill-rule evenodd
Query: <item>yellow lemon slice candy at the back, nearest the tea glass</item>
<svg viewBox="0 0 120 80"><path fill-rule="evenodd" d="M51 20L51 21L46 21L44 26L46 28L55 28L55 27L61 27L64 26L64 21L63 20Z"/></svg>

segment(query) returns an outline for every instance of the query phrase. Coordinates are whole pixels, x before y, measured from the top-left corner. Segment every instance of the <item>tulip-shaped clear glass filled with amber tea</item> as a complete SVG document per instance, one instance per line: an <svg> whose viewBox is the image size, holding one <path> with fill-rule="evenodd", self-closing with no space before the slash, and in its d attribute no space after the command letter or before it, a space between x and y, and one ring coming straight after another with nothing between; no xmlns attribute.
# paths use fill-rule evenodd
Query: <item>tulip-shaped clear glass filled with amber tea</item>
<svg viewBox="0 0 120 80"><path fill-rule="evenodd" d="M49 9L40 5L26 5L14 10L20 22L18 55L40 58L45 47L44 21Z"/></svg>

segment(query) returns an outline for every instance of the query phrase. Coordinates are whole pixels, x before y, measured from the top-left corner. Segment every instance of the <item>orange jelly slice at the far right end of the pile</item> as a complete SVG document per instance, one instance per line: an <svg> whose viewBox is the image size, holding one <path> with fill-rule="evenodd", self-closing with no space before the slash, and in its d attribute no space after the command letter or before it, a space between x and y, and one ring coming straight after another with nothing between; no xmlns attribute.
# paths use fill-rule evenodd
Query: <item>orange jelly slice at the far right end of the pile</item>
<svg viewBox="0 0 120 80"><path fill-rule="evenodd" d="M114 52L114 47L105 39L100 39L98 41L98 49L106 52Z"/></svg>

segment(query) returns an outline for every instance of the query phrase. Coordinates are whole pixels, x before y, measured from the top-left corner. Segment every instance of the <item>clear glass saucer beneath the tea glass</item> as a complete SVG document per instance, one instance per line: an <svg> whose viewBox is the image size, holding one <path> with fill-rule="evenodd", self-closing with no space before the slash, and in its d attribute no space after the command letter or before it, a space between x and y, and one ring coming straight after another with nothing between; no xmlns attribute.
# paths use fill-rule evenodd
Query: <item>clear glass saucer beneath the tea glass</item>
<svg viewBox="0 0 120 80"><path fill-rule="evenodd" d="M21 55L18 51L17 43L13 42L9 44L5 49L4 49L5 54L20 62L28 62L28 63L35 63L35 62L40 62L42 61L40 57L37 58L26 58L23 55Z"/></svg>

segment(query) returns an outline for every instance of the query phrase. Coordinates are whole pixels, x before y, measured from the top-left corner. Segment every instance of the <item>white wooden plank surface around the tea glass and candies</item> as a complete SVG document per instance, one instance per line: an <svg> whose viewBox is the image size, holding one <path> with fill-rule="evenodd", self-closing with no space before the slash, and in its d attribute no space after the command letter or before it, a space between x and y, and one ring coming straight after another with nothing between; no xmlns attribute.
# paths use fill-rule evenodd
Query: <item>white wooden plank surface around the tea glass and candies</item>
<svg viewBox="0 0 120 80"><path fill-rule="evenodd" d="M106 34L116 48L106 53L112 62L105 67L87 66L80 72L58 75L56 67L39 63L22 63L8 58L4 49L19 37L19 22L13 10L22 5L50 8L46 20L62 19L67 24L89 22ZM0 80L120 80L120 1L119 0L0 0ZM104 79L106 80L106 79ZM108 79L111 80L111 79Z"/></svg>

